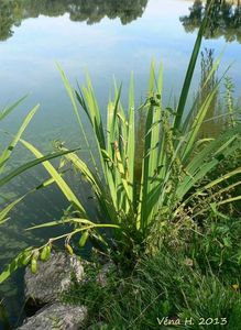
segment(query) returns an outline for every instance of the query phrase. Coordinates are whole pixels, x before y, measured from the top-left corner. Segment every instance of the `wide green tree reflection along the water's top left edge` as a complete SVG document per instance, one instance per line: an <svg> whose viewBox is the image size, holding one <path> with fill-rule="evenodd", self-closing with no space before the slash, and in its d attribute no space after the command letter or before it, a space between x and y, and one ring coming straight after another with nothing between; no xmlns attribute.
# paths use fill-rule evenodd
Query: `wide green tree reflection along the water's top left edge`
<svg viewBox="0 0 241 330"><path fill-rule="evenodd" d="M119 18L128 24L141 18L147 0L7 0L0 1L0 41L12 36L13 26L24 19L39 15L59 16L69 14L72 21L86 21L87 24L100 22L105 16Z"/></svg>

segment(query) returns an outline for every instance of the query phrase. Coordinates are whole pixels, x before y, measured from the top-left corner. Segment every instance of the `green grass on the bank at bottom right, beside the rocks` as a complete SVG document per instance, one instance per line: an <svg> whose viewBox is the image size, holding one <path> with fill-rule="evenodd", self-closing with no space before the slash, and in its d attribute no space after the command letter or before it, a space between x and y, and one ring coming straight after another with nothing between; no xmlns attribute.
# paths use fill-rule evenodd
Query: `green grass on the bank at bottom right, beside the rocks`
<svg viewBox="0 0 241 330"><path fill-rule="evenodd" d="M200 245L204 245L202 267L198 256ZM98 270L90 268L87 272L90 280L73 285L63 300L88 306L89 324L97 324L92 329L166 329L157 322L157 318L165 317L180 319L178 329L239 329L241 297L233 285L240 284L240 266L235 267L235 276L233 272L220 276L209 264L210 253L204 252L205 242L199 241L199 246L190 243L189 248L196 253L191 260L184 251L174 253L163 248L155 256L142 256L128 275L113 267L105 287L96 280ZM185 319L190 318L194 324L185 327ZM218 319L217 322L226 318L227 324L202 326L201 318ZM99 322L105 326L98 326Z"/></svg>

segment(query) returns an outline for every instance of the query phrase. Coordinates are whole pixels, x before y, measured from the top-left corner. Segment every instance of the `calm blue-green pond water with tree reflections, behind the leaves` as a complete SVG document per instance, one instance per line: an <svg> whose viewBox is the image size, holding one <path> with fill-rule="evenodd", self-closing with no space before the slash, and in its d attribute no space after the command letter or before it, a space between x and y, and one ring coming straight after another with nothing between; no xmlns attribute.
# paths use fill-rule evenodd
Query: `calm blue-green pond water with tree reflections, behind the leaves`
<svg viewBox="0 0 241 330"><path fill-rule="evenodd" d="M68 146L79 146L76 121L56 63L73 84L76 79L83 84L88 70L105 116L113 74L123 82L124 98L132 70L136 99L141 101L154 58L164 65L167 105L169 98L178 97L200 13L201 2L188 0L0 0L0 107L30 94L0 129L15 132L28 111L40 103L41 109L24 136L42 150L55 139L67 141ZM213 57L223 52L219 76L234 62L229 76L238 98L241 95L241 9L227 1L212 22L202 50L212 50ZM199 77L200 65L190 95L197 90ZM14 193L24 193L42 178L41 168L30 172L14 183ZM58 219L65 207L64 198L54 187L21 205L11 215L11 222L0 229L3 238L0 268L26 243L37 244L48 235L42 231L36 239L26 235L22 228L40 220ZM9 307L13 322L22 299L20 283L21 274L18 274L1 288L1 295L9 296L6 304L10 306L14 301Z"/></svg>

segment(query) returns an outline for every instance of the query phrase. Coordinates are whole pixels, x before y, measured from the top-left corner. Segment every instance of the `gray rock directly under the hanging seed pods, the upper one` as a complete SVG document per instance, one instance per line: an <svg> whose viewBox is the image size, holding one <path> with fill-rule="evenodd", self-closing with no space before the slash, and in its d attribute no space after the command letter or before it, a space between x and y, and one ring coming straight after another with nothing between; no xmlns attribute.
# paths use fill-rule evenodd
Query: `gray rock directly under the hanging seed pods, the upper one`
<svg viewBox="0 0 241 330"><path fill-rule="evenodd" d="M73 277L84 279L84 262L76 255L52 253L47 262L39 262L37 274L28 267L24 275L25 297L37 304L56 301L61 293L68 290Z"/></svg>

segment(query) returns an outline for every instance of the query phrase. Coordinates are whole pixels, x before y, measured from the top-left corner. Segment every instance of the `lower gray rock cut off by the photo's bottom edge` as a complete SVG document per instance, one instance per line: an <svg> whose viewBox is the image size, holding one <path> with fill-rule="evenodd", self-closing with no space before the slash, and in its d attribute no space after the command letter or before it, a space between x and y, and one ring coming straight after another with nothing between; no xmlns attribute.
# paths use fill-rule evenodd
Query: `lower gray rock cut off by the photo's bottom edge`
<svg viewBox="0 0 241 330"><path fill-rule="evenodd" d="M87 308L55 302L28 318L19 330L78 330L85 329Z"/></svg>

